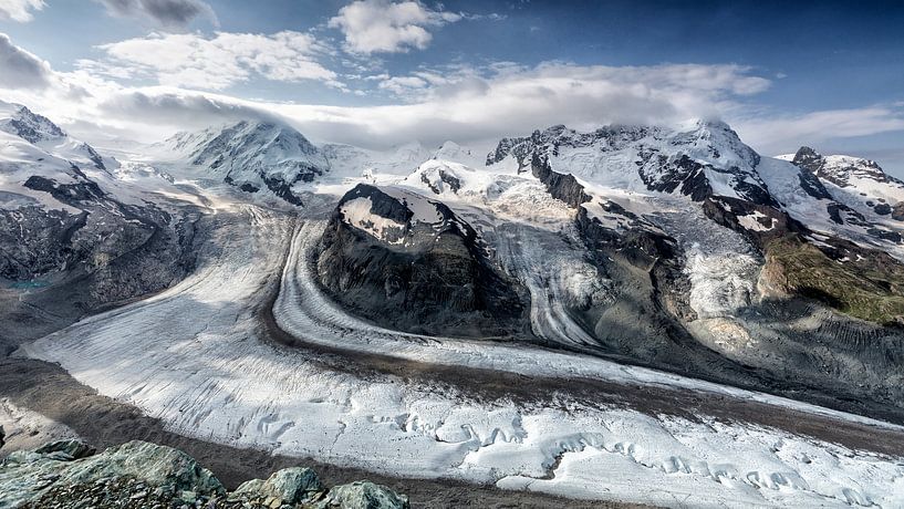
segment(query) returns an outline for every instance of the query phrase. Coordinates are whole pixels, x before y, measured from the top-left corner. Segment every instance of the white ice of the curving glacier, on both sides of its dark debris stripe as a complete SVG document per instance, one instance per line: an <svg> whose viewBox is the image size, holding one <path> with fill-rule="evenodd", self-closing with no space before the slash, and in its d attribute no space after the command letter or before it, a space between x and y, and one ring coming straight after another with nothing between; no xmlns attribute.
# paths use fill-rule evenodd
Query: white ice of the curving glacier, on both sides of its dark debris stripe
<svg viewBox="0 0 904 509"><path fill-rule="evenodd" d="M373 328L342 313L313 285L303 261L322 221L293 227L291 218L257 207L242 207L241 217L216 232L220 247L186 281L24 352L61 363L81 382L178 433L383 472L661 506L904 503L900 458L706 416L692 423L567 397L550 407L478 403L448 387L333 372L308 352L267 344L251 318L261 288L279 273L281 239L291 238L274 315L305 341L526 375L688 387L871 422L580 355L423 341Z"/></svg>

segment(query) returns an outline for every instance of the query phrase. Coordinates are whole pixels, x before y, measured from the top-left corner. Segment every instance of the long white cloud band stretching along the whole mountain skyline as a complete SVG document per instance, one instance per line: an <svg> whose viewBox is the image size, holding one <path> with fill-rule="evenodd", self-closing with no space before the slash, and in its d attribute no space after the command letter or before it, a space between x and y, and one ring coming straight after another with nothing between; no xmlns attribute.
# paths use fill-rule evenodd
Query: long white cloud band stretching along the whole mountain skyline
<svg viewBox="0 0 904 509"><path fill-rule="evenodd" d="M502 62L482 69L422 69L406 76L376 74L359 80L399 94L404 101L398 104L323 106L249 101L175 86L131 87L89 66L54 72L0 35L0 54L2 50L22 60L14 64L18 67L0 64L7 65L0 66L0 80L32 77L0 82L0 89L7 87L0 90L0 98L27 104L86 141L115 134L153 142L176 131L240 118L282 118L321 142L388 148L412 141L453 139L488 146L502 136L526 135L553 124L592 129L612 123L668 125L690 117L721 117L766 155L792 152L803 144L861 146L871 152L850 152L892 158L880 163L904 175L896 147L858 143L863 136L904 131L904 104L754 116L754 97L770 81L738 65L615 67L551 62L526 67ZM279 75L268 71L266 62L249 64L232 54L224 59L221 65L236 66L229 72L262 69ZM253 52L248 59L254 61Z"/></svg>

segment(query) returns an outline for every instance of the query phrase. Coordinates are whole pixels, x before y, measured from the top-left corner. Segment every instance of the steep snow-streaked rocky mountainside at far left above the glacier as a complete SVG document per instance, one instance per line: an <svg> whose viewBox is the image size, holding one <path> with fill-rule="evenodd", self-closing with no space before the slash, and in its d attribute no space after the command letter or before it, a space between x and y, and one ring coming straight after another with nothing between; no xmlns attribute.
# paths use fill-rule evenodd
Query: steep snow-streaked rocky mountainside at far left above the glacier
<svg viewBox="0 0 904 509"><path fill-rule="evenodd" d="M197 210L149 201L147 189L113 173L127 168L24 106L3 103L0 114L3 342L160 290L190 270Z"/></svg>

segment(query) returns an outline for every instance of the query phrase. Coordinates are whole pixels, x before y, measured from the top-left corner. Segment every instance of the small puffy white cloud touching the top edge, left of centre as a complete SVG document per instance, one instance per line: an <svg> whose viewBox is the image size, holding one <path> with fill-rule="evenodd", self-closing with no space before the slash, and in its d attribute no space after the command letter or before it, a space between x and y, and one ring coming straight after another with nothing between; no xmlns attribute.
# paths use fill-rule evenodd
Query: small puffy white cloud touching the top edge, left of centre
<svg viewBox="0 0 904 509"><path fill-rule="evenodd" d="M396 53L423 50L433 39L430 28L463 19L463 14L432 10L418 1L359 0L339 10L329 27L345 34L354 53Z"/></svg>

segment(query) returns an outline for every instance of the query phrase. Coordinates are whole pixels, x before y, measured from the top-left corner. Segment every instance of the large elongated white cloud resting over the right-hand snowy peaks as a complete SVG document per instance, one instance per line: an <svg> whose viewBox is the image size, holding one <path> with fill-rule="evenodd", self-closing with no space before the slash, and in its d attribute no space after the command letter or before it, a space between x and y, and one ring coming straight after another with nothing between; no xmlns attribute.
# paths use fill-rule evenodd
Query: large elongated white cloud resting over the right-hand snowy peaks
<svg viewBox="0 0 904 509"><path fill-rule="evenodd" d="M534 67L507 63L420 70L385 79L380 86L406 104L341 115L343 127L325 133L326 137L391 145L406 138L487 139L562 123L575 128L672 124L720 117L770 82L738 65L615 67L551 62Z"/></svg>

